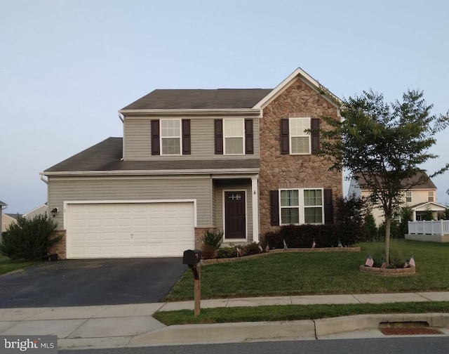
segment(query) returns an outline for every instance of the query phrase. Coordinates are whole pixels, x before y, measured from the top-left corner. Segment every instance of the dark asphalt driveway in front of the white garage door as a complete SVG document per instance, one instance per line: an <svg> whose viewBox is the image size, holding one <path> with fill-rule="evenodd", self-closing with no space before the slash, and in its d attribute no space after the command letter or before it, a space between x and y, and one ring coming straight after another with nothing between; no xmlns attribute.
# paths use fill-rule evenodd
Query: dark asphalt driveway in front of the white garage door
<svg viewBox="0 0 449 354"><path fill-rule="evenodd" d="M186 269L182 258L46 262L0 276L0 308L160 302Z"/></svg>

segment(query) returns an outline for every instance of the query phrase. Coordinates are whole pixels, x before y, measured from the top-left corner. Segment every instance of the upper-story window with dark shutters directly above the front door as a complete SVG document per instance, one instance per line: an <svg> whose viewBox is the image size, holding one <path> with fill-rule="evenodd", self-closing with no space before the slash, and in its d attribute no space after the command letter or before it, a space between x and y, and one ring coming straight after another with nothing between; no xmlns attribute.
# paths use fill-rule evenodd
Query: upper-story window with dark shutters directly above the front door
<svg viewBox="0 0 449 354"><path fill-rule="evenodd" d="M215 155L254 154L253 119L215 119Z"/></svg>

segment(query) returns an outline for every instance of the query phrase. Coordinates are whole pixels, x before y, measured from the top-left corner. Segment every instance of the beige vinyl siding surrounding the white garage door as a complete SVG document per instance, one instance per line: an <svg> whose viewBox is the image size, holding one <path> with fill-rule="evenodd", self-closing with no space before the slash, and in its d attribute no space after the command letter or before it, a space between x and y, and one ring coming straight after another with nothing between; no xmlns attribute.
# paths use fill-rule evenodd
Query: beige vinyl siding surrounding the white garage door
<svg viewBox="0 0 449 354"><path fill-rule="evenodd" d="M62 229L64 202L83 200L196 199L198 227L210 227L212 199L210 178L206 177L49 177L48 203L58 207L55 217Z"/></svg>

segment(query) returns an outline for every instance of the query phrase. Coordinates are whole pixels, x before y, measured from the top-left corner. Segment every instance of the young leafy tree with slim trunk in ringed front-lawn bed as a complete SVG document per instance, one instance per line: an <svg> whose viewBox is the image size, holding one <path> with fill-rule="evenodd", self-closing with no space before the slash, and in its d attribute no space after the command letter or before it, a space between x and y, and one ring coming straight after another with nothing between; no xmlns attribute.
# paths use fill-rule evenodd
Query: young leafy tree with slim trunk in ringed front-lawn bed
<svg viewBox="0 0 449 354"><path fill-rule="evenodd" d="M328 91L323 89L323 94ZM445 116L432 115L420 91L407 91L402 102L384 103L382 94L364 91L361 96L336 100L342 122L323 117L330 126L321 129L321 155L333 161L333 169L350 172L363 180L385 218L385 260L389 264L391 218L401 206L403 193L428 178L420 168L438 156L429 152L436 133L449 124ZM432 176L449 169L449 164ZM415 176L420 178L414 178ZM359 182L360 183L360 182Z"/></svg>

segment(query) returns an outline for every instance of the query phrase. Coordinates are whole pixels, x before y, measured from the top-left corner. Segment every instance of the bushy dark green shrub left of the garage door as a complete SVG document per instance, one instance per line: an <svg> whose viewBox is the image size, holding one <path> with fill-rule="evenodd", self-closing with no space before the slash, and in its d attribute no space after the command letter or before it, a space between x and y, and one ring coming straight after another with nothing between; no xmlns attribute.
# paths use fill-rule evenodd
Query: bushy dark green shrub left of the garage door
<svg viewBox="0 0 449 354"><path fill-rule="evenodd" d="M44 215L32 219L19 217L17 223L11 224L3 232L0 254L27 261L48 258L48 249L62 238L53 235L57 227L58 223Z"/></svg>

